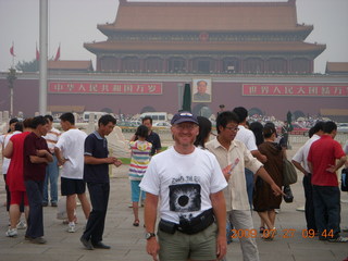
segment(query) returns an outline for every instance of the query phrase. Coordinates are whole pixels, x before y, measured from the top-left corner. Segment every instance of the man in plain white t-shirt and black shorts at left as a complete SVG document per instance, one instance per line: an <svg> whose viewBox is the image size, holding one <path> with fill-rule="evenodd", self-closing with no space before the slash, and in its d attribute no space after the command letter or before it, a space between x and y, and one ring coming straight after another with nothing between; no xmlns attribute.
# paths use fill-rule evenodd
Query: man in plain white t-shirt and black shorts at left
<svg viewBox="0 0 348 261"><path fill-rule="evenodd" d="M61 192L66 196L66 213L69 220L67 232L75 232L76 194L80 201L86 220L89 216L90 204L86 197L86 183L84 182L84 145L87 135L75 127L73 113L60 116L64 133L60 136L54 152L61 171Z"/></svg>

